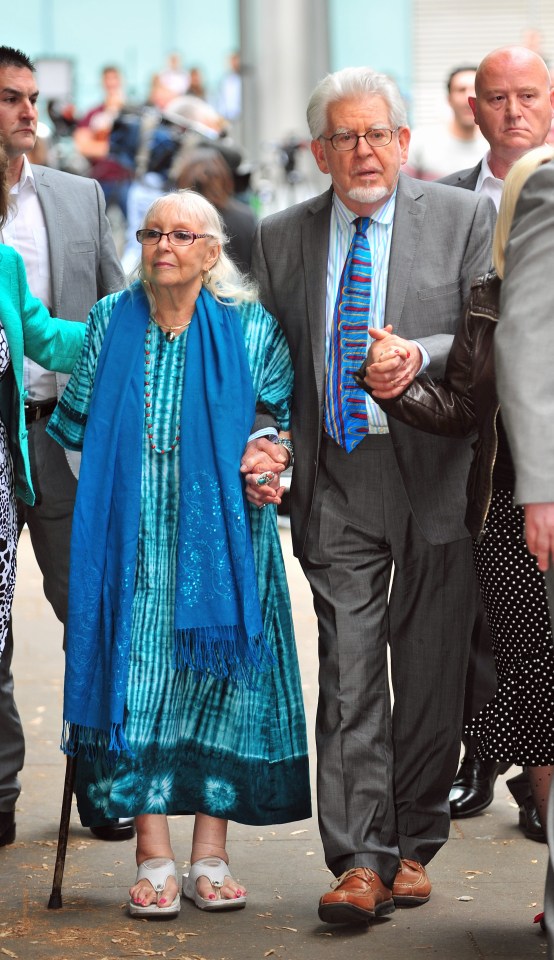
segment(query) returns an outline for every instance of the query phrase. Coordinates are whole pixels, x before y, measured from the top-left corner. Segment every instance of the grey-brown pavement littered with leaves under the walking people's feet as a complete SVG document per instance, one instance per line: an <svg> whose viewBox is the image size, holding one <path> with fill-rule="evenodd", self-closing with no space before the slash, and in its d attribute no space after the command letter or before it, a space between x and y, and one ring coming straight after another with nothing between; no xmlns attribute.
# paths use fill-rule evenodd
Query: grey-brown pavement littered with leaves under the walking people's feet
<svg viewBox="0 0 554 960"><path fill-rule="evenodd" d="M282 529L314 757L317 631L309 591ZM185 901L171 921L131 920L134 843L96 840L74 810L63 907L48 910L65 758L59 750L63 653L61 627L42 594L25 530L14 604L17 703L27 737L16 842L0 848L0 960L534 960L546 939L533 917L542 910L547 851L517 829L517 808L497 782L483 814L454 822L429 868L428 904L398 909L371 926L320 923L317 903L332 880L317 820L268 828L231 824L228 851L249 890L245 910L208 914ZM508 774L509 775L509 774ZM312 762L315 782L315 759ZM315 796L314 796L315 801ZM314 802L315 809L315 802ZM174 817L178 868L185 866L191 818Z"/></svg>

